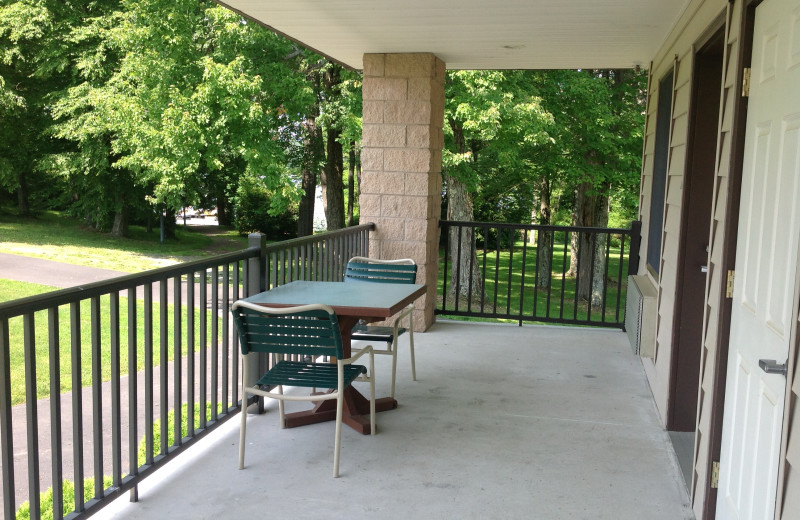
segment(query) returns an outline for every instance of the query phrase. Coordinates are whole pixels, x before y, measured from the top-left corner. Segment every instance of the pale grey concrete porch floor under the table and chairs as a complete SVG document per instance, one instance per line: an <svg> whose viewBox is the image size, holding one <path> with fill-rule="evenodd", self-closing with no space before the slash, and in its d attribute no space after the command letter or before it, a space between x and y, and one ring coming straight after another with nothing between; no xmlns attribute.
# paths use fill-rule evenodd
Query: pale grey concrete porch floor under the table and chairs
<svg viewBox="0 0 800 520"><path fill-rule="evenodd" d="M376 436L343 427L339 479L333 424L281 430L268 401L244 470L237 416L96 517L694 518L624 333L440 320L415 339L418 381L403 338L399 406ZM376 365L381 397L390 358Z"/></svg>

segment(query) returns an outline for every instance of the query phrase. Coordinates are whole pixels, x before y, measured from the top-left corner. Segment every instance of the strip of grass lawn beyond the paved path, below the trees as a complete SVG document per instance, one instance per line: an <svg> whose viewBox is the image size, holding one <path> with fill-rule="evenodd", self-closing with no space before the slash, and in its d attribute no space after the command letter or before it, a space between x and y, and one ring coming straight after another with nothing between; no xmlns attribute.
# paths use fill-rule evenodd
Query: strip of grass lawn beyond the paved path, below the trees
<svg viewBox="0 0 800 520"><path fill-rule="evenodd" d="M142 226L131 226L130 237L119 238L58 212L36 218L0 212L0 252L129 273L247 247L247 238L233 230L214 233L211 237L179 225L176 238L161 244L157 227L147 233Z"/></svg>

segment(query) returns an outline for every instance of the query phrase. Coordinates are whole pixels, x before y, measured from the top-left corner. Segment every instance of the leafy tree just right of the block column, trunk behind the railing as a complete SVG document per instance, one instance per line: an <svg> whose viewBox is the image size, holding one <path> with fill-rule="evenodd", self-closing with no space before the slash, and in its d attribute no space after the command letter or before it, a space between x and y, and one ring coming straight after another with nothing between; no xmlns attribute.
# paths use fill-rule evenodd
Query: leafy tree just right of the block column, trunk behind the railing
<svg viewBox="0 0 800 520"><path fill-rule="evenodd" d="M447 76L445 105L444 179L447 219L475 220L475 203L492 208L492 217L530 215L531 191L527 188L540 174L539 149L549 141L552 117L533 95L530 77L523 72L457 71ZM522 195L520 195L522 193ZM501 216L505 212L505 216ZM513 215L513 216L512 216ZM527 218L527 217L526 217ZM453 256L450 287L469 287L480 294L481 277L474 256L475 237L463 230L451 232L450 241L461 240L462 255ZM458 253L453 249L451 255ZM472 264L474 268L469 269ZM455 279L460 276L461 279ZM451 295L452 296L452 295Z"/></svg>

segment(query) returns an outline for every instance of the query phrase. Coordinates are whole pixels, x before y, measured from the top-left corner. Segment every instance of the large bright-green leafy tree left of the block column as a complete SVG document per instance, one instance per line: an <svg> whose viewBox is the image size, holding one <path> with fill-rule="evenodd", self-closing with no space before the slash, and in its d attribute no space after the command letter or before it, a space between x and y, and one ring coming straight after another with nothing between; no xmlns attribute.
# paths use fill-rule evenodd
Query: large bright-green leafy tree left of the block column
<svg viewBox="0 0 800 520"><path fill-rule="evenodd" d="M279 128L311 92L287 40L203 0L123 0L90 27L119 58L80 69L83 83L57 105L58 135L79 144L84 175L137 186L170 215L217 205L222 224L241 175L275 194L274 211L286 207L294 191Z"/></svg>

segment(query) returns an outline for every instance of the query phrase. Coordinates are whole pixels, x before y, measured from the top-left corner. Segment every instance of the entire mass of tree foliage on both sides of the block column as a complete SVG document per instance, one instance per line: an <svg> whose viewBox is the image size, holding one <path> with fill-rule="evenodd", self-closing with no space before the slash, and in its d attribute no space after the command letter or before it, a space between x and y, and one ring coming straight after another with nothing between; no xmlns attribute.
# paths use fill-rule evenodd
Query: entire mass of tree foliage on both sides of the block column
<svg viewBox="0 0 800 520"><path fill-rule="evenodd" d="M358 72L211 0L0 0L0 44L0 191L21 212L57 206L122 234L186 205L241 222L261 193L305 234L322 184L329 226L355 222ZM448 217L570 223L591 200L622 224L643 78L449 72Z"/></svg>

